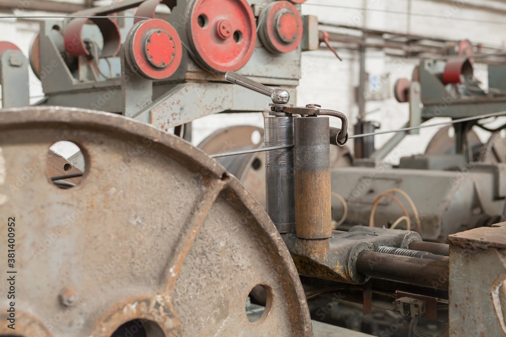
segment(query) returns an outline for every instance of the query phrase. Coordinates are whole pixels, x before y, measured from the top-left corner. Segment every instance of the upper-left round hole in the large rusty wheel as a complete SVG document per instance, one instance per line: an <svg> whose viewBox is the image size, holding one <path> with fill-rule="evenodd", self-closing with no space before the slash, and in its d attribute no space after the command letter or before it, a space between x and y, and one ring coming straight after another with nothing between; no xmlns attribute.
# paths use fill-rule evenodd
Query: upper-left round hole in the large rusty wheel
<svg viewBox="0 0 506 337"><path fill-rule="evenodd" d="M36 167L27 168L25 173L31 177ZM48 151L46 173L58 187L66 189L81 183L85 173L85 158L81 149L71 141L58 141ZM33 171L33 173L31 173ZM24 180L24 178L22 178Z"/></svg>

